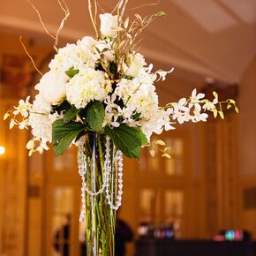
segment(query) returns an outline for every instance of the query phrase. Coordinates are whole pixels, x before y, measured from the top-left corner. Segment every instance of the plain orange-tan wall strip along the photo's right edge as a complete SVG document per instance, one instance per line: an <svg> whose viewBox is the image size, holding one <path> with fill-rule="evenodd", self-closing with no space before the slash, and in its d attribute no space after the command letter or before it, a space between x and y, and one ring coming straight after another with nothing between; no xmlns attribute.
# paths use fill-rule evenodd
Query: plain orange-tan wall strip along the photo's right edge
<svg viewBox="0 0 256 256"><path fill-rule="evenodd" d="M245 209L243 199L246 188L256 187L256 56L241 79L239 109L239 224L256 237L256 208Z"/></svg>

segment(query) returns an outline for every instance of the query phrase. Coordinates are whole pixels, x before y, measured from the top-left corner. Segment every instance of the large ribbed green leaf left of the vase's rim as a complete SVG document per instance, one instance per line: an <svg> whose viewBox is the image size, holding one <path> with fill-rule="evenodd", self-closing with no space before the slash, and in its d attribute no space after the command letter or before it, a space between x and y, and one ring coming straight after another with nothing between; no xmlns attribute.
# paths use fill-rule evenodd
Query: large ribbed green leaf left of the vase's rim
<svg viewBox="0 0 256 256"><path fill-rule="evenodd" d="M52 124L52 144L55 155L63 154L72 140L76 139L84 129L83 124L75 122L65 124L64 120L56 120Z"/></svg>

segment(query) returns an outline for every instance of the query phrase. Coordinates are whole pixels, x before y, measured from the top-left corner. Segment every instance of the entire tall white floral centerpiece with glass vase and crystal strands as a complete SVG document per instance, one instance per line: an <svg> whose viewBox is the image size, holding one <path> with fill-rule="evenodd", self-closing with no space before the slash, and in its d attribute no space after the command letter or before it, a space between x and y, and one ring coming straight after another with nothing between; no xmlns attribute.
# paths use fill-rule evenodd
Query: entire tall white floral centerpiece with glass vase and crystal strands
<svg viewBox="0 0 256 256"><path fill-rule="evenodd" d="M82 180L80 222L87 222L87 256L115 254L116 211L123 193L123 154L139 158L141 147L150 146L153 133L175 129L174 124L207 121L207 112L223 118L236 102L204 99L196 89L188 99L159 106L155 82L169 72L153 71L138 51L139 34L163 11L141 18L124 17L128 1L119 0L115 10L89 13L96 38L85 36L57 49L49 72L34 87L34 101L20 100L8 111L10 128L30 128L29 155L52 145L56 155L71 145L78 147ZM94 3L96 3L94 1ZM96 4L95 4L96 6ZM225 107L226 107L225 106ZM168 154L165 154L168 156Z"/></svg>

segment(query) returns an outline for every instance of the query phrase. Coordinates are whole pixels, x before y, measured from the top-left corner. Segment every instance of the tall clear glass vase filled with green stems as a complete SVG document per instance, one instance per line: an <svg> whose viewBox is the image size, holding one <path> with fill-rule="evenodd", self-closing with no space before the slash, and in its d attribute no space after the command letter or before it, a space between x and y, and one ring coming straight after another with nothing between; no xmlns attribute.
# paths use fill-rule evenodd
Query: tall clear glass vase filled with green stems
<svg viewBox="0 0 256 256"><path fill-rule="evenodd" d="M117 150L109 141L109 173L106 186L105 154L106 137L90 133L82 140L85 171L80 175L82 185L82 218L87 223L87 256L114 256L116 210L109 206L109 200L117 198ZM81 154L81 152L79 152ZM107 193L108 191L108 193ZM84 193L84 196L83 196Z"/></svg>

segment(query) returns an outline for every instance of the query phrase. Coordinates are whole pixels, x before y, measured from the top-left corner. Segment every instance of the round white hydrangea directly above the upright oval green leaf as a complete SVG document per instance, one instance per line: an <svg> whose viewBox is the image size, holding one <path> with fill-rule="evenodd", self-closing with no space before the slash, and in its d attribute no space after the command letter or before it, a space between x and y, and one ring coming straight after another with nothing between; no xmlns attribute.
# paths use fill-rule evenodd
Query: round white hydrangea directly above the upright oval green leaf
<svg viewBox="0 0 256 256"><path fill-rule="evenodd" d="M110 80L105 77L104 72L86 68L66 84L66 97L68 102L79 109L85 108L88 102L94 100L104 101L111 90Z"/></svg>

